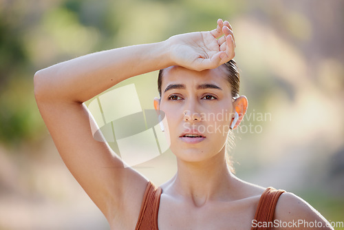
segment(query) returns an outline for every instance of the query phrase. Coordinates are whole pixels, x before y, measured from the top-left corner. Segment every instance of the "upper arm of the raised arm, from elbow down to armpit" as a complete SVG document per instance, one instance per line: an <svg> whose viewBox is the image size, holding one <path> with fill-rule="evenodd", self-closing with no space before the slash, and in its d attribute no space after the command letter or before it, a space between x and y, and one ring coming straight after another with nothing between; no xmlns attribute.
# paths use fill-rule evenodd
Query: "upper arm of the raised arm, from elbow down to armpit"
<svg viewBox="0 0 344 230"><path fill-rule="evenodd" d="M138 216L147 179L124 167L105 141L94 140L85 105L36 101L65 165L107 219Z"/></svg>

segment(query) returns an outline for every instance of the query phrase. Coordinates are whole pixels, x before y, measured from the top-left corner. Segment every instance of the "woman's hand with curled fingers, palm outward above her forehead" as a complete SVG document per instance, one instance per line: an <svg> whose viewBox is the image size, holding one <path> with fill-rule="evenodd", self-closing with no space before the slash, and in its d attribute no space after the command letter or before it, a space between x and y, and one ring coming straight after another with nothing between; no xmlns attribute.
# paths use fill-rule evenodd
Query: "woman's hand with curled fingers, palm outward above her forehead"
<svg viewBox="0 0 344 230"><path fill-rule="evenodd" d="M235 56L232 27L222 19L214 30L179 34L167 41L173 63L190 70L214 69Z"/></svg>

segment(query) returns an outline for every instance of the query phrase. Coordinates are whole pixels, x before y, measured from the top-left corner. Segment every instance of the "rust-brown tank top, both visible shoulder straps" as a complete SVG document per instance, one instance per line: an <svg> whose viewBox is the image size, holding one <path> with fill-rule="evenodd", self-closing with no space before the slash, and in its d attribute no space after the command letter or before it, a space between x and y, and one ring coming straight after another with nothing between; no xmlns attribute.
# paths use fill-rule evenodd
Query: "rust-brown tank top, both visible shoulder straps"
<svg viewBox="0 0 344 230"><path fill-rule="evenodd" d="M285 192L284 190L277 190L272 187L268 187L261 198L257 206L255 213L256 223L273 222L275 207L279 196ZM158 211L160 205L160 195L162 189L156 187L152 182L148 182L147 189L144 192L142 200L140 216L136 223L135 230L159 230L158 229ZM256 224L258 225L258 224ZM260 225L260 224L259 224ZM252 227L251 230L270 230L270 227Z"/></svg>

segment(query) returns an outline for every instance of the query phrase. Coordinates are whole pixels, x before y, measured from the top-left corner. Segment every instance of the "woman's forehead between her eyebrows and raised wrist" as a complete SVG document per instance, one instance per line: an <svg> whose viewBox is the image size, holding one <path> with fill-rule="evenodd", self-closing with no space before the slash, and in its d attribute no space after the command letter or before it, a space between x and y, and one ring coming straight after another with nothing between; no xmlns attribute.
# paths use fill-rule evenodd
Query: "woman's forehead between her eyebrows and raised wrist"
<svg viewBox="0 0 344 230"><path fill-rule="evenodd" d="M222 88L230 89L227 81L226 70L223 66L219 66L212 70L195 71L180 66L170 66L164 69L162 74L162 92L169 84L199 85L202 83L215 83ZM227 87L225 87L227 86Z"/></svg>

